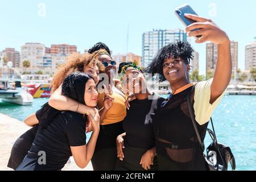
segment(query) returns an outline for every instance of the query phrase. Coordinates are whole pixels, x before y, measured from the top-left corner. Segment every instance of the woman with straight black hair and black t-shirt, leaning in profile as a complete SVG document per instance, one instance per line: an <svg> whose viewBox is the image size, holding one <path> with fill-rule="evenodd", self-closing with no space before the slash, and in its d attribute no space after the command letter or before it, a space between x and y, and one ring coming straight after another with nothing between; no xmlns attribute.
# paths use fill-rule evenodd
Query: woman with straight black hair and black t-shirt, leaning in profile
<svg viewBox="0 0 256 182"><path fill-rule="evenodd" d="M98 93L93 77L86 73L75 72L67 76L62 84L62 94L89 107L97 105ZM42 111L43 110L43 111ZM77 166L85 168L92 159L98 133L100 115L93 117L73 111L59 111L48 104L37 113L30 115L24 122L28 126L39 123L39 129L30 151L16 171L61 170L73 155ZM86 144L86 122L92 122L93 133Z"/></svg>

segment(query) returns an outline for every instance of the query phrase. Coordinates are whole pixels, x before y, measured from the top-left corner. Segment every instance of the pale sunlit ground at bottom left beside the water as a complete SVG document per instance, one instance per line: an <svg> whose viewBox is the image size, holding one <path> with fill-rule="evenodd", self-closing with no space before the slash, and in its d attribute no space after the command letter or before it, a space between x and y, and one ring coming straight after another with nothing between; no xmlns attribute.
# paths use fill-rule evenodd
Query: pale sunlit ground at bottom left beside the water
<svg viewBox="0 0 256 182"><path fill-rule="evenodd" d="M7 163L10 157L11 147L15 140L26 132L30 127L26 126L18 119L11 118L7 115L0 113L0 171L12 171L7 167ZM89 163L84 169L80 169L76 166L73 158L63 168L63 171L92 171L92 164Z"/></svg>

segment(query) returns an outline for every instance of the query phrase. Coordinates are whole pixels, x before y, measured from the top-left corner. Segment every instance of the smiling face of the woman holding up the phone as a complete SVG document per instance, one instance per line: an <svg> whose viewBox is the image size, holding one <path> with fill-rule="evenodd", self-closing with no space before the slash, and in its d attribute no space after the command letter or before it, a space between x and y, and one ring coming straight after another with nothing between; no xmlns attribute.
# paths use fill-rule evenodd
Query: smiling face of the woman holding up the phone
<svg viewBox="0 0 256 182"><path fill-rule="evenodd" d="M188 69L189 65L185 64L180 57L174 59L174 57L171 56L164 60L163 63L163 75L170 83L186 80L185 74L187 74Z"/></svg>

